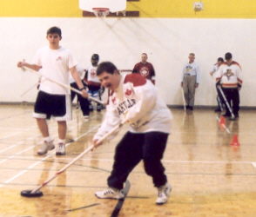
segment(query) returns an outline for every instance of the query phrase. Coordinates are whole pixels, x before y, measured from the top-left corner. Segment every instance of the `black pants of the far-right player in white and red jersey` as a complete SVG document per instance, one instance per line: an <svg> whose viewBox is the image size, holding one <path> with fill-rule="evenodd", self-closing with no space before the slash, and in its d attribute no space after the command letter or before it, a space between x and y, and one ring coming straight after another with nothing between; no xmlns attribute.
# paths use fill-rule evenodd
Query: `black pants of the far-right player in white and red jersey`
<svg viewBox="0 0 256 217"><path fill-rule="evenodd" d="M239 114L239 89L223 89L224 95L226 96L226 100L229 103L229 106L231 107L232 102L232 112L233 115ZM228 108L226 108L226 113L230 114L230 111Z"/></svg>

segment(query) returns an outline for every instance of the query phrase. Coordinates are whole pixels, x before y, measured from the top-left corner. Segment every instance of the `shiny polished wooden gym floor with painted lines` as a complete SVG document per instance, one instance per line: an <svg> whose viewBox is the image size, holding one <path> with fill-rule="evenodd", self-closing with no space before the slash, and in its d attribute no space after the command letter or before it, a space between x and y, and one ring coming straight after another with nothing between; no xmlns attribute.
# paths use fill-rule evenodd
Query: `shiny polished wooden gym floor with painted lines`
<svg viewBox="0 0 256 217"><path fill-rule="evenodd" d="M74 109L73 121L68 122L67 155L56 156L52 150L38 156L42 137L32 110L28 105L0 106L0 216L256 216L253 110L240 111L238 121L226 120L226 130L212 109L172 109L172 135L163 159L172 194L163 206L155 205L157 189L142 162L128 177L131 188L125 201L99 200L94 195L106 187L115 145L127 126L43 187L44 196L22 197L22 190L42 184L90 146L104 115L91 113L84 122ZM57 123L50 121L49 126L57 141ZM233 135L239 136L239 147L231 145Z"/></svg>

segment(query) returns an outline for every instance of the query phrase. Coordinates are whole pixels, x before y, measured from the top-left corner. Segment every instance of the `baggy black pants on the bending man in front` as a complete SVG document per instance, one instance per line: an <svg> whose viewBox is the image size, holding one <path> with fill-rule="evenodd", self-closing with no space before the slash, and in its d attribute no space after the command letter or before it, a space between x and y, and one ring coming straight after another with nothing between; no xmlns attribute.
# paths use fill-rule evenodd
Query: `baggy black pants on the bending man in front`
<svg viewBox="0 0 256 217"><path fill-rule="evenodd" d="M123 188L131 170L143 159L145 173L152 176L155 187L165 185L167 177L161 163L168 134L149 132L133 134L127 132L116 148L114 164L108 178L109 187Z"/></svg>

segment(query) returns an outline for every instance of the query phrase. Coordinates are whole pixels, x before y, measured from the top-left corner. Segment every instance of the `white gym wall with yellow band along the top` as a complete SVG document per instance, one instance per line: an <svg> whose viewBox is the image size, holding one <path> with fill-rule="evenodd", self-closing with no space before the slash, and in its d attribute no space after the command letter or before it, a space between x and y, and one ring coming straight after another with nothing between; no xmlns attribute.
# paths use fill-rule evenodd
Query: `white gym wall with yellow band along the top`
<svg viewBox="0 0 256 217"><path fill-rule="evenodd" d="M63 30L61 45L71 49L86 67L93 53L100 61L114 62L118 69L132 69L146 52L157 74L157 87L168 105L182 105L180 79L190 52L196 54L201 82L196 105L216 105L214 79L209 75L217 58L231 52L244 72L241 106L255 106L256 5L251 0L207 0L195 12L193 2L140 0L128 2L127 10L139 10L138 18L87 18L78 0L0 0L0 102L35 102L30 89L37 76L17 69L17 62L31 62L37 49L48 44L46 30Z"/></svg>

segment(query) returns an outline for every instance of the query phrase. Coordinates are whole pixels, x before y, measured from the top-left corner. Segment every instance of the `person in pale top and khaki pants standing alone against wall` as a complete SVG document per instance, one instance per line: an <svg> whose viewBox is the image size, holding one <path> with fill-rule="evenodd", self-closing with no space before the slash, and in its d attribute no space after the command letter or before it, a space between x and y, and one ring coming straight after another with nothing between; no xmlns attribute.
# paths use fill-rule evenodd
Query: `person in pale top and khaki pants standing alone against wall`
<svg viewBox="0 0 256 217"><path fill-rule="evenodd" d="M193 109L195 102L196 89L199 87L200 80L200 68L195 61L195 55L190 53L188 56L189 62L186 62L183 67L183 73L181 78L181 88L184 91L184 97L186 102L186 109Z"/></svg>

